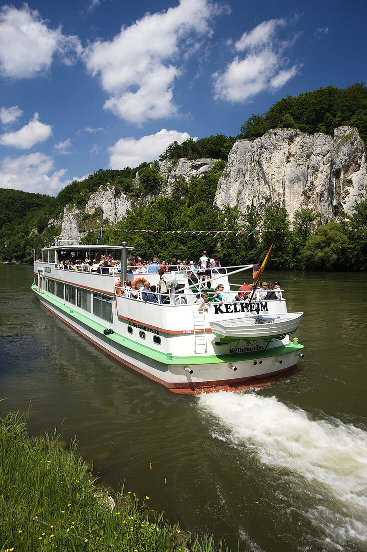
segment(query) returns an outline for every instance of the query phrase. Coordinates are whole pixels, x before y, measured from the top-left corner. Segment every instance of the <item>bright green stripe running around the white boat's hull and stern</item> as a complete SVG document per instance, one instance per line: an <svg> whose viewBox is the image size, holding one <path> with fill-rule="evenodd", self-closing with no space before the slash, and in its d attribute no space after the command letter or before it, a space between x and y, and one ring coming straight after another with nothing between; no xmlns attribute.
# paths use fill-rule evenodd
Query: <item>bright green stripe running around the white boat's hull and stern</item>
<svg viewBox="0 0 367 552"><path fill-rule="evenodd" d="M191 357L177 357L171 353L163 353L157 351L152 347L147 345L137 343L128 337L122 336L120 333L114 332L110 335L104 335L103 331L106 330L107 326L103 323L96 322L95 320L89 318L87 315L82 314L81 312L75 310L72 306L64 305L61 301L58 301L53 295L48 295L47 293L40 291L36 285L32 285L33 291L44 300L47 300L51 305L55 306L59 311L64 312L68 318L73 318L84 326L90 328L101 334L101 336L106 339L106 341L115 342L118 345L122 345L131 351L134 351L138 354L143 355L144 357L149 357L153 360L157 360L162 364L168 365L177 365L177 364L223 364L228 362L241 362L244 360L255 360L258 358L268 358L268 357L279 357L280 355L293 353L303 349L303 345L296 343L288 343L287 345L282 345L280 347L273 347L272 349L267 349L266 351L251 351L248 353L233 353L233 354L219 354L219 355L193 355Z"/></svg>

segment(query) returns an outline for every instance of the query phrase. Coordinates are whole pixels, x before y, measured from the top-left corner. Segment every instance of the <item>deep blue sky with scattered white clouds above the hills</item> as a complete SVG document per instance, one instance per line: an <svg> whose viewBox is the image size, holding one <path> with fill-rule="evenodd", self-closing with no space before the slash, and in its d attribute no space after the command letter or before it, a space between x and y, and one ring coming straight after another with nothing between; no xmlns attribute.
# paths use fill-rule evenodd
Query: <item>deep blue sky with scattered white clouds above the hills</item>
<svg viewBox="0 0 367 552"><path fill-rule="evenodd" d="M0 11L0 187L56 195L366 78L364 1L30 0Z"/></svg>

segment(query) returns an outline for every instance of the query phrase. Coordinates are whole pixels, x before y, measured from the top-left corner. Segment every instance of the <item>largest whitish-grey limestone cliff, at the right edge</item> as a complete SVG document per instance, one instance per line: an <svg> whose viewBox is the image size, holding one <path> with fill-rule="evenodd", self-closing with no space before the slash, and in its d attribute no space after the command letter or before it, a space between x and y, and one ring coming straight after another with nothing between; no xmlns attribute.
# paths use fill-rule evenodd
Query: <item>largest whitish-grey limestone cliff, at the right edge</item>
<svg viewBox="0 0 367 552"><path fill-rule="evenodd" d="M334 137L277 129L237 141L218 183L214 207L276 203L294 212L310 208L323 221L352 211L367 187L366 153L357 129L342 126Z"/></svg>

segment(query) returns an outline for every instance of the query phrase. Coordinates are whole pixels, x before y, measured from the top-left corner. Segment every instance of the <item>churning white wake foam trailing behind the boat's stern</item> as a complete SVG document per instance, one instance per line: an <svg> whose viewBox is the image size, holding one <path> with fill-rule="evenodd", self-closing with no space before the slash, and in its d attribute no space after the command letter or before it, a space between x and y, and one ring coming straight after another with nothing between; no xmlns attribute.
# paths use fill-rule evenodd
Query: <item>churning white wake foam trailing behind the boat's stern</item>
<svg viewBox="0 0 367 552"><path fill-rule="evenodd" d="M327 550L350 543L367 549L365 431L337 420L312 421L305 411L256 392L203 393L198 405L219 422L213 437L249 448L280 477L295 477L294 489L307 485L307 492L325 499L325 507L304 513L323 533Z"/></svg>

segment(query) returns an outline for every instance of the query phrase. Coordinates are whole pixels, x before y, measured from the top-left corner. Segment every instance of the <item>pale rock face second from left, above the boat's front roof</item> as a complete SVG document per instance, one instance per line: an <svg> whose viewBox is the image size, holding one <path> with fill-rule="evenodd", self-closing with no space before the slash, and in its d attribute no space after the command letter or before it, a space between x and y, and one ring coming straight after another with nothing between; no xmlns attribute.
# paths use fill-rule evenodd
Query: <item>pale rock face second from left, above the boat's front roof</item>
<svg viewBox="0 0 367 552"><path fill-rule="evenodd" d="M101 186L97 192L91 194L85 206L85 212L91 215L96 208L101 207L103 210L103 218L109 219L109 221L114 224L117 220L126 216L127 210L131 208L131 204L131 199L124 193L115 195L115 188L113 186Z"/></svg>

